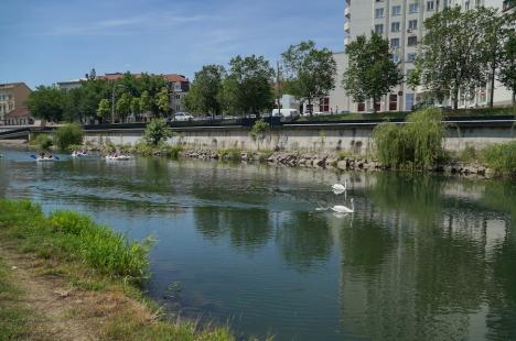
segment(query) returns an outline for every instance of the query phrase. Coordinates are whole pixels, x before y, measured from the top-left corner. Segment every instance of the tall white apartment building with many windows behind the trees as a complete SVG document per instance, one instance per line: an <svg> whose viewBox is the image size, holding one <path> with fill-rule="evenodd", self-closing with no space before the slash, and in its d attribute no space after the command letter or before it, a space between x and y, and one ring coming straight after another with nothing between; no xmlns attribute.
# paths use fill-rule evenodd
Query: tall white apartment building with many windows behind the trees
<svg viewBox="0 0 516 341"><path fill-rule="evenodd" d="M479 6L507 9L507 0L346 0L344 45L358 35L372 31L389 41L393 58L399 64L406 79L415 69L418 44L424 35L423 22L445 7L461 6L471 10ZM461 100L461 107L487 105L490 88L479 89L473 100ZM421 94L401 85L377 105L379 111L412 110L421 100ZM510 92L499 84L495 85L495 105L510 103ZM448 105L448 103L447 103ZM373 103L351 103L348 111L370 111Z"/></svg>

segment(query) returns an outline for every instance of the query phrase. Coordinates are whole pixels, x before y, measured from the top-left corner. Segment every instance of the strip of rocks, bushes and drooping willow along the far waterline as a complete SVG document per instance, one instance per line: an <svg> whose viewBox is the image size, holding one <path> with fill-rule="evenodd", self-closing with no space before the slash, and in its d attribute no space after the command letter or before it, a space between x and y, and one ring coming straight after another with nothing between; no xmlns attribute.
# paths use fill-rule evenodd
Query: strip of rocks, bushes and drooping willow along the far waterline
<svg viewBox="0 0 516 341"><path fill-rule="evenodd" d="M363 157L352 155L343 151L336 151L331 155L321 155L318 152L282 152L259 150L258 152L245 151L239 147L218 150L189 150L181 142L175 145L166 143L173 136L165 120L152 120L144 132L143 139L136 145L115 145L109 140L103 145L86 145L86 148L140 154L143 156L164 156L171 158L186 157L201 160L222 160L230 162L269 162L288 166L314 166L334 167L341 170L436 170L456 173L464 175L512 175L516 174L516 142L506 144L493 144L484 150L476 151L466 146L461 153L452 154L444 150L445 123L443 113L436 108L427 108L416 111L406 118L407 124L385 122L378 124L373 131L374 148L370 155ZM63 127L63 132L49 135L39 135L32 144L45 148L57 141L61 148L62 142L67 135L75 135L75 140L66 138L65 141L78 142L83 140L82 131L76 127ZM255 122L249 131L249 136L259 145L270 125L264 120ZM57 136L57 138L56 138ZM322 138L323 139L323 138ZM67 145L67 148L75 145Z"/></svg>

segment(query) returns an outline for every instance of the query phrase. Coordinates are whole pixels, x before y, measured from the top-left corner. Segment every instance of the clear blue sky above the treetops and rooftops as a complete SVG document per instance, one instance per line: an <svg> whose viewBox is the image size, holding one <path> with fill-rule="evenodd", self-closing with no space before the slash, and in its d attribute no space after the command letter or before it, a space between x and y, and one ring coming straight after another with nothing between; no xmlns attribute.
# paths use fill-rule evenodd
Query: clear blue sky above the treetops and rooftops
<svg viewBox="0 0 516 341"><path fill-rule="evenodd" d="M0 84L34 88L126 72L182 74L236 55L276 65L313 40L344 50L344 0L1 0Z"/></svg>

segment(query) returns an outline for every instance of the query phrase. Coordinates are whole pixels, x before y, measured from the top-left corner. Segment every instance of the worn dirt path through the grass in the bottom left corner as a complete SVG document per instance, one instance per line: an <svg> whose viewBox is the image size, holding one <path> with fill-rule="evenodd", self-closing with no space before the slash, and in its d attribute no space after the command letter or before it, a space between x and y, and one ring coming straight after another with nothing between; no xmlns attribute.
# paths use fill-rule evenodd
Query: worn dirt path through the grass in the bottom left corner
<svg viewBox="0 0 516 341"><path fill-rule="evenodd" d="M25 293L23 302L36 318L31 326L31 340L99 340L77 314L84 293L65 287L63 280L39 275L42 262L13 252L0 244L0 257L13 271L17 286Z"/></svg>

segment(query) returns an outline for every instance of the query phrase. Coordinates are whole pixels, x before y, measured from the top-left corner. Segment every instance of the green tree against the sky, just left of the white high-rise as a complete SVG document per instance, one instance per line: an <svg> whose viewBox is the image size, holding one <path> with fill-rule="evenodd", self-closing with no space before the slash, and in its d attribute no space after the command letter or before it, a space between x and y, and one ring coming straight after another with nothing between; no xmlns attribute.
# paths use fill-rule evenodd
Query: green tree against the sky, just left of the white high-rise
<svg viewBox="0 0 516 341"><path fill-rule="evenodd" d="M291 45L282 54L287 79L284 90L308 102L310 114L315 99L335 88L336 62L327 48L318 50L312 41Z"/></svg>

